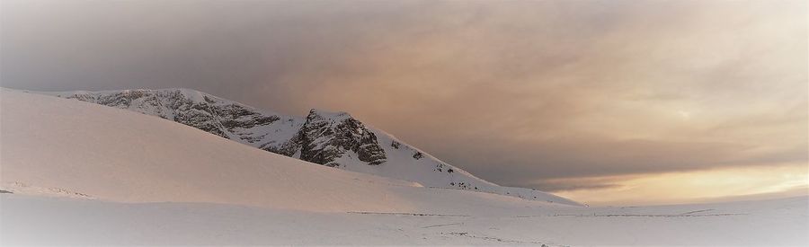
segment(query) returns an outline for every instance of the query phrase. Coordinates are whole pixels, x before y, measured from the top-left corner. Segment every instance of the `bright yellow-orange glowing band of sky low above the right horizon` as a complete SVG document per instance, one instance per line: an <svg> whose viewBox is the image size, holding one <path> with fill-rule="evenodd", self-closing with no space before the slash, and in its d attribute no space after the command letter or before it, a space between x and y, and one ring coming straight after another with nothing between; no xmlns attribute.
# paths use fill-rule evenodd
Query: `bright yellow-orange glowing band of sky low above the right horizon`
<svg viewBox="0 0 809 247"><path fill-rule="evenodd" d="M559 181L595 182L610 186L560 190L556 195L591 205L672 204L728 199L783 198L809 195L809 167L804 163L724 168L698 172L666 172L623 177Z"/></svg>

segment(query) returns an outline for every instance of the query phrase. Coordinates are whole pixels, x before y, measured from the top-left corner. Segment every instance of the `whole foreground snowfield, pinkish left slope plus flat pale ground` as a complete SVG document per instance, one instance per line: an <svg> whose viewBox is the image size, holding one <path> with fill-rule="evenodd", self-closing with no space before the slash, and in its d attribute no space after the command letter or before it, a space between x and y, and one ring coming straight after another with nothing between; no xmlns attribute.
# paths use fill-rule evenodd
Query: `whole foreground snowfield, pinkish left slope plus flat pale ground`
<svg viewBox="0 0 809 247"><path fill-rule="evenodd" d="M807 197L579 207L429 188L129 110L0 93L3 246L809 245Z"/></svg>

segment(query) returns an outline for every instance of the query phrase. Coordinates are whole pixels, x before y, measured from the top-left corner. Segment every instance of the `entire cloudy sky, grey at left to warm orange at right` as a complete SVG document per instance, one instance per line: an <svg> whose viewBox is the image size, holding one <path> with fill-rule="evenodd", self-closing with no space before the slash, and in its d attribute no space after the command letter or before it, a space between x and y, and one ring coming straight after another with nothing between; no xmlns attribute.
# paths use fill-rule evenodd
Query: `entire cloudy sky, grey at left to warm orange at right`
<svg viewBox="0 0 809 247"><path fill-rule="evenodd" d="M809 193L805 1L39 1L0 85L344 110L592 204Z"/></svg>

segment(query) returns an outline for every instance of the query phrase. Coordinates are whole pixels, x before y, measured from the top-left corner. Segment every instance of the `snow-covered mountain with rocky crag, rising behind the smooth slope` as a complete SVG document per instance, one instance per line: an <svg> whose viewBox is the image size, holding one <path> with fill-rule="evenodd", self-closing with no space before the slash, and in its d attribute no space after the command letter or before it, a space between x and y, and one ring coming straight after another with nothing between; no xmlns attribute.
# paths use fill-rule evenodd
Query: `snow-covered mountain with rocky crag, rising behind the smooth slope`
<svg viewBox="0 0 809 247"><path fill-rule="evenodd" d="M538 190L503 187L479 179L346 112L310 110L303 118L284 116L191 89L37 93L137 111L275 154L352 172L414 181L425 187L564 200ZM564 200L564 203L573 202Z"/></svg>

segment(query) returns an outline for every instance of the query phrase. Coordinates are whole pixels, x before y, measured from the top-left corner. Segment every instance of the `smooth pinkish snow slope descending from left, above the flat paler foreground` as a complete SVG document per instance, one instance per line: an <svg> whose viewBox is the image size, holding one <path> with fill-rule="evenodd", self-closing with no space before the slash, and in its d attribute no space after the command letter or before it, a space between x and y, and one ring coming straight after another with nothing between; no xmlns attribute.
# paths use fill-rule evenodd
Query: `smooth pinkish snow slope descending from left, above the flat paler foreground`
<svg viewBox="0 0 809 247"><path fill-rule="evenodd" d="M4 190L341 212L413 211L413 197L427 193L417 183L302 162L127 110L0 92ZM438 199L448 206L455 195L523 201L431 190L452 194Z"/></svg>

